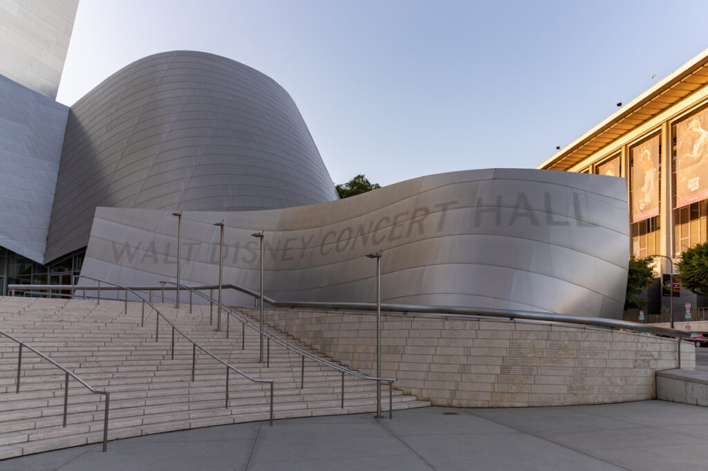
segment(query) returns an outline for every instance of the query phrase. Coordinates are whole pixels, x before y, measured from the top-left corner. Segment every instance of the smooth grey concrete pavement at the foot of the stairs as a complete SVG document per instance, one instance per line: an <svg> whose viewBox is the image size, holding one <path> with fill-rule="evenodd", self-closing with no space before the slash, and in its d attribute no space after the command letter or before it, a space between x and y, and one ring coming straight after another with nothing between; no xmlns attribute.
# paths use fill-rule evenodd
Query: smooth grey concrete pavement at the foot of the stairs
<svg viewBox="0 0 708 471"><path fill-rule="evenodd" d="M708 409L662 401L426 407L176 431L0 461L0 471L705 471Z"/></svg>

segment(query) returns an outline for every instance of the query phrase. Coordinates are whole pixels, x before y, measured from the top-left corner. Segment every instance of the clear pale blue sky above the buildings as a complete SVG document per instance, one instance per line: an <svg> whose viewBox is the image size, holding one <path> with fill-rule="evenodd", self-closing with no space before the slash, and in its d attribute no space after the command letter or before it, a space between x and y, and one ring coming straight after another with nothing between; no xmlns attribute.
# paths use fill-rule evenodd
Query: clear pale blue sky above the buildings
<svg viewBox="0 0 708 471"><path fill-rule="evenodd" d="M201 50L295 100L335 183L533 168L708 47L708 1L80 0L57 99Z"/></svg>

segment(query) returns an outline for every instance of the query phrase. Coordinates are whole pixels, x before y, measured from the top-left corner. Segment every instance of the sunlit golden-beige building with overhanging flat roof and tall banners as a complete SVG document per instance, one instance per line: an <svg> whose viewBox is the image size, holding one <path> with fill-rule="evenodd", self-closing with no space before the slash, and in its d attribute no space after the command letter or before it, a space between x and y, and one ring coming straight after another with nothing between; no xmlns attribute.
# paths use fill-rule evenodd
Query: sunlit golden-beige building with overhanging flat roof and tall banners
<svg viewBox="0 0 708 471"><path fill-rule="evenodd" d="M708 49L537 168L626 178L634 256L675 262L707 242ZM670 273L668 259L659 268ZM675 312L702 302L681 294Z"/></svg>

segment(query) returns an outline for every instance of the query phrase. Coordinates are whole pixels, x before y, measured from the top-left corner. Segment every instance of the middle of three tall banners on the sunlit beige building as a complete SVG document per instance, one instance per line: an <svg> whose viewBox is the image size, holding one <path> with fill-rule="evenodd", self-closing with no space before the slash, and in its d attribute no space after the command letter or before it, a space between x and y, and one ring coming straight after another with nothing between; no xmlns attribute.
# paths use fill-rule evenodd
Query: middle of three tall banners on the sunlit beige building
<svg viewBox="0 0 708 471"><path fill-rule="evenodd" d="M632 157L632 222L659 214L659 142L661 135L630 149Z"/></svg>

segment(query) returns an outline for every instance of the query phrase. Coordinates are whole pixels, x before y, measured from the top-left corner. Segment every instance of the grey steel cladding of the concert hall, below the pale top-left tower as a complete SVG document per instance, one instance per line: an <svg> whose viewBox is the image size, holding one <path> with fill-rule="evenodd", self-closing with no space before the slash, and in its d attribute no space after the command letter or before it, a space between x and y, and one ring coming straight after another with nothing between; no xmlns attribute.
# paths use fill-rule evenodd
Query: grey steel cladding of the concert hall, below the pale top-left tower
<svg viewBox="0 0 708 471"><path fill-rule="evenodd" d="M216 283L224 220L224 282L258 287L264 230L265 293L280 300L371 301L366 255L382 250L384 302L622 314L621 178L486 169L338 200L287 92L203 52L130 64L68 120L7 79L0 108L0 244L35 261L88 244L82 274L144 285L175 278L180 251L183 282Z"/></svg>

